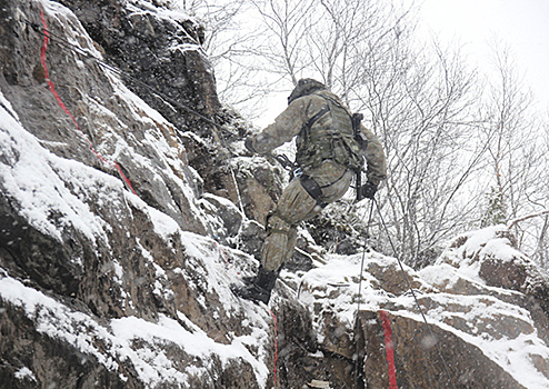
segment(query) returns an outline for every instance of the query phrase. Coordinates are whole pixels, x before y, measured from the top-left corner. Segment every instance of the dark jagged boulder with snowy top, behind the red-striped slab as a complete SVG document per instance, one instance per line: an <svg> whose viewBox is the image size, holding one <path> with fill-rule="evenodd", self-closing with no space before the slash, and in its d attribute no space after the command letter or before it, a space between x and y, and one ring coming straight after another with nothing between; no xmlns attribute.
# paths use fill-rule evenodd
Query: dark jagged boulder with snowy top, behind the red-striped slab
<svg viewBox="0 0 549 389"><path fill-rule="evenodd" d="M126 84L176 128L196 127L200 116L218 113L216 82L201 48L204 31L196 20L158 1L60 2L120 69Z"/></svg>

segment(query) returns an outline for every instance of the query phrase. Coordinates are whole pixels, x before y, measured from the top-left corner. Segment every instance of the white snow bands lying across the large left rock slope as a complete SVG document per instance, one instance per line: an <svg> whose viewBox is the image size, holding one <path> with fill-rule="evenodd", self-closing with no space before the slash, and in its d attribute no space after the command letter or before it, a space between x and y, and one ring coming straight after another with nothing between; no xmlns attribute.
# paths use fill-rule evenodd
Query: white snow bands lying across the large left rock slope
<svg viewBox="0 0 549 389"><path fill-rule="evenodd" d="M242 307L241 301L229 290L230 281L239 271L224 257L233 258L242 253L230 252L230 249L206 237L182 232L173 219L148 207L137 196L124 190L120 179L49 152L34 136L24 130L1 93L0 187L18 205L20 215L31 226L60 242L64 228L72 226L91 242L101 239L108 245L110 226L89 208L90 197L97 203L110 203L114 211L127 209L124 201L132 202L149 215L154 231L161 238L167 241L174 237L181 239L189 261L204 268L209 275L208 288L216 290L228 311L247 309L250 326L253 326L251 335L234 337L230 345L223 345L209 338L182 313L178 319L184 321L192 331L163 315L156 322L127 317L103 325L91 313L76 311L52 297L0 273L0 298L23 309L36 322L39 332L61 339L82 353L96 357L110 370L117 370L119 361L129 360L140 379L149 387L160 382L184 387L189 375L207 375L209 371L208 363L201 368L189 367L187 371L177 370L176 366L180 361L169 359L168 351L162 348L167 343L173 343L186 353L200 357L204 361L214 360L213 356L223 365L230 360L244 360L253 368L260 385L267 381L270 368L264 361L270 356L264 353L261 346L269 339L271 318L268 312L251 303ZM188 196L193 196L192 190L189 189ZM52 215L58 217L52 218ZM149 259L152 260L152 257ZM119 270L117 273L121 277L123 269ZM157 272L159 271L161 273L162 269L157 267ZM161 286L158 288L161 289ZM133 347L136 343L141 347ZM257 346L260 346L260 350L253 356L249 348ZM32 379L24 369L18 372L18 377Z"/></svg>

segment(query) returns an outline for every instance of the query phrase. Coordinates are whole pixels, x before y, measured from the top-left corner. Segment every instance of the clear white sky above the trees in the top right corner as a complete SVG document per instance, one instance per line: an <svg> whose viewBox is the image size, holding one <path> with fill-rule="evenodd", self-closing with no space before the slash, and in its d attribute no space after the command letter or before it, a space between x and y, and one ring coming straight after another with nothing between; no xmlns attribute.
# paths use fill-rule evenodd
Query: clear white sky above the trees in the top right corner
<svg viewBox="0 0 549 389"><path fill-rule="evenodd" d="M540 108L549 109L549 0L419 0L420 29L487 62L495 39L509 47Z"/></svg>

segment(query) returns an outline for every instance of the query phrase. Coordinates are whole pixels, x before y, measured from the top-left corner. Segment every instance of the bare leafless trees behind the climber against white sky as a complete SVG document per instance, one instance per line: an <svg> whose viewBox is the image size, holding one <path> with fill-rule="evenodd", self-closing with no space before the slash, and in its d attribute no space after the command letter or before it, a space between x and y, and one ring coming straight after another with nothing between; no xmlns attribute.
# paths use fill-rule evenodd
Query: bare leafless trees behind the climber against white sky
<svg viewBox="0 0 549 389"><path fill-rule="evenodd" d="M532 147L539 133L505 51L496 62L499 83L482 96L478 74L459 50L418 48L413 4L243 0L223 7L219 19L209 21L218 37L204 46L224 63L218 71L221 94L237 109L250 112L267 93L315 77L366 113L388 156L380 206L398 255L409 265L429 263L446 239L480 225L488 208L486 182L492 207L505 206L499 216L506 220L547 207L541 206L547 190L538 196L533 189L539 181L533 178L542 173L542 153ZM238 19L243 10L246 29ZM520 241L541 252L547 226L537 223L513 228Z"/></svg>

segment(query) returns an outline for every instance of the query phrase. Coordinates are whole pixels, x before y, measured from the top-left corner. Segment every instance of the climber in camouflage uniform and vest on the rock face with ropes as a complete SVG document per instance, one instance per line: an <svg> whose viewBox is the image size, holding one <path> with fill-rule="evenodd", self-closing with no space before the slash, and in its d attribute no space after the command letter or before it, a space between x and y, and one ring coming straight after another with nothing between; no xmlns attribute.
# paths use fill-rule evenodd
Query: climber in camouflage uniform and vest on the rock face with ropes
<svg viewBox="0 0 549 389"><path fill-rule="evenodd" d="M251 152L269 153L297 137L299 169L283 190L276 210L267 217L259 272L246 281L244 287L236 289L238 296L269 302L280 269L292 256L297 225L339 200L357 171L363 168L365 158L368 180L359 189L359 199L373 199L380 181L386 178L385 153L371 131L362 126L357 128L360 139L353 133L352 116L340 99L321 82L302 79L274 123L246 139L244 144Z"/></svg>

